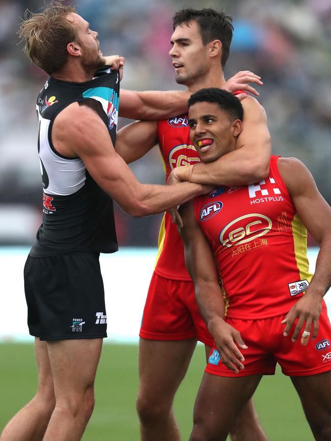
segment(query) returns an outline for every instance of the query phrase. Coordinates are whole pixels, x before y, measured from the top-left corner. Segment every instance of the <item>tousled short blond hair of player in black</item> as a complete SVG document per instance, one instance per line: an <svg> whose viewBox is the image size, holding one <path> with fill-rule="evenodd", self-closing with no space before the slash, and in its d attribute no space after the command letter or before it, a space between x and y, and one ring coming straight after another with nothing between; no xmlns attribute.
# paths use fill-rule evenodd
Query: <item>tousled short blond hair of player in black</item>
<svg viewBox="0 0 331 441"><path fill-rule="evenodd" d="M66 19L76 10L60 2L50 4L43 12L25 11L19 37L25 41L24 52L41 69L51 75L67 62L67 44L77 39L77 28Z"/></svg>

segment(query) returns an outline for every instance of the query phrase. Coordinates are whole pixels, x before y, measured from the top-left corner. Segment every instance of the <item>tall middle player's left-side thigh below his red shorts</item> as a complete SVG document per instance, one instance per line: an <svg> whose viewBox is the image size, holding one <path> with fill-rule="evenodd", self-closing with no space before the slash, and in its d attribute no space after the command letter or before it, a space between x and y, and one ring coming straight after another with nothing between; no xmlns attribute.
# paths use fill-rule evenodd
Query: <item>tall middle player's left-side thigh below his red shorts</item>
<svg viewBox="0 0 331 441"><path fill-rule="evenodd" d="M156 341L141 338L139 399L158 401L168 398L172 401L186 374L196 344L195 339Z"/></svg>

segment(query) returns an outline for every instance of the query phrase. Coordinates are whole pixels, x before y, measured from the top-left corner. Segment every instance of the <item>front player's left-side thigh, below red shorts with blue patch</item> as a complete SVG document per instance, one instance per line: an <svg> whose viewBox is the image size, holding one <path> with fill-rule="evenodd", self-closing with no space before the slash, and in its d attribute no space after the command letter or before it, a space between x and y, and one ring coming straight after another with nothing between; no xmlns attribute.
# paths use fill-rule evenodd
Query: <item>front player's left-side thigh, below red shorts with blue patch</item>
<svg viewBox="0 0 331 441"><path fill-rule="evenodd" d="M261 378L261 374L234 378L205 373L194 407L195 426L200 426L210 439L227 434Z"/></svg>

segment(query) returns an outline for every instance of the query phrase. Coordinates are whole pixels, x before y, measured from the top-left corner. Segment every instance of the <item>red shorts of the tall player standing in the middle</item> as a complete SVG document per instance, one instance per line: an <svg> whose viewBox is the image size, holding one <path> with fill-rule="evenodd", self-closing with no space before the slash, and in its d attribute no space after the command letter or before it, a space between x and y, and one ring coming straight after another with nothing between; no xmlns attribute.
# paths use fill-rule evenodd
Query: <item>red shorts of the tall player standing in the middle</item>
<svg viewBox="0 0 331 441"><path fill-rule="evenodd" d="M195 338L212 346L213 339L200 315L193 282L165 279L154 272L139 336L163 341Z"/></svg>

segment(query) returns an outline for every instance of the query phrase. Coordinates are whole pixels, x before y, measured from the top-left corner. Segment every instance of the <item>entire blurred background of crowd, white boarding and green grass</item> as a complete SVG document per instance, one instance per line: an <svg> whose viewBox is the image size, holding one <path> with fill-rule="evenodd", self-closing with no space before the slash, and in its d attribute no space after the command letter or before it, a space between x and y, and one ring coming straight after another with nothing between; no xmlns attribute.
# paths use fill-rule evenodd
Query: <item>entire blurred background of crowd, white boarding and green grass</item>
<svg viewBox="0 0 331 441"><path fill-rule="evenodd" d="M91 29L99 32L103 53L126 58L121 87L133 90L180 89L168 56L173 13L184 5L224 8L235 18L226 78L246 69L262 77L259 101L268 115L273 153L304 161L331 202L331 0L98 0L97 4L76 0L73 4ZM31 343L8 340L27 337L22 267L41 222L35 101L46 78L24 56L15 31L26 8L37 11L43 5L34 0L0 1L0 339L7 341L0 345L5 397L0 430L36 387ZM121 120L120 126L127 123ZM164 181L157 148L131 167L142 182ZM122 251L102 260L106 277L117 278L107 304L108 316L113 314L108 340L132 342L156 254L161 215L133 219L117 208L116 217ZM314 246L312 239L309 243ZM121 309L119 298L126 305L131 302L129 311ZM97 407L85 441L138 439L136 359L136 345L105 346L97 378ZM191 426L203 365L199 347L176 401L183 439ZM270 439L313 439L287 378L264 379L256 404Z"/></svg>

